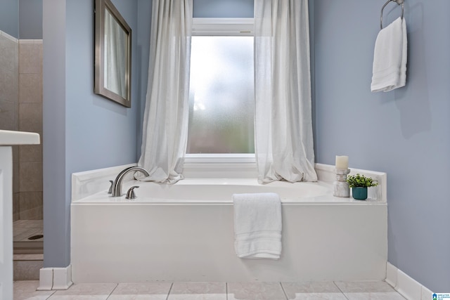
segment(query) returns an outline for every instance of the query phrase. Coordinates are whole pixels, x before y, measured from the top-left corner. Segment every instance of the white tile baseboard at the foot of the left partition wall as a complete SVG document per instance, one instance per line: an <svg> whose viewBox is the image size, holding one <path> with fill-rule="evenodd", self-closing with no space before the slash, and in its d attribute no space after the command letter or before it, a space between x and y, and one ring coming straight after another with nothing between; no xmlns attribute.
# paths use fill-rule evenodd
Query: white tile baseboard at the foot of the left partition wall
<svg viewBox="0 0 450 300"><path fill-rule="evenodd" d="M68 289L72 282L72 265L65 268L41 268L38 291Z"/></svg>

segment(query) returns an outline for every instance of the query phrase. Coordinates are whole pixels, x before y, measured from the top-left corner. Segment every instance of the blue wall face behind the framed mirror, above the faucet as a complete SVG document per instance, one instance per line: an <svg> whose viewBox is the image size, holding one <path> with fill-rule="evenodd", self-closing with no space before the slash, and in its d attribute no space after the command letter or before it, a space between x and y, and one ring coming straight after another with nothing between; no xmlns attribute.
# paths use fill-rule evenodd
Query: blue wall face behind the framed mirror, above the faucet
<svg viewBox="0 0 450 300"><path fill-rule="evenodd" d="M115 0L132 31L131 109L94 94L93 1L66 0L67 159L70 173L136 162L137 0Z"/></svg>

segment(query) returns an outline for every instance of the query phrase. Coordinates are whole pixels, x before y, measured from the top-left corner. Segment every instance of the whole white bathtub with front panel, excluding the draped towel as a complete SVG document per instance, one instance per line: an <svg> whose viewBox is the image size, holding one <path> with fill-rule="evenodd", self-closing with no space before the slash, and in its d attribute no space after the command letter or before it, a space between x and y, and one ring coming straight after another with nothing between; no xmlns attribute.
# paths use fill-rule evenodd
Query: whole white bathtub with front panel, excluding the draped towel
<svg viewBox="0 0 450 300"><path fill-rule="evenodd" d="M92 182L108 177L98 176L101 171L74 174L72 181L75 283L385 278L385 198L333 197L323 181L258 185L248 178L196 178L175 185L128 182L124 191L139 185L138 198L126 200L109 197L107 184L92 193ZM281 259L239 259L231 195L264 192L282 200Z"/></svg>

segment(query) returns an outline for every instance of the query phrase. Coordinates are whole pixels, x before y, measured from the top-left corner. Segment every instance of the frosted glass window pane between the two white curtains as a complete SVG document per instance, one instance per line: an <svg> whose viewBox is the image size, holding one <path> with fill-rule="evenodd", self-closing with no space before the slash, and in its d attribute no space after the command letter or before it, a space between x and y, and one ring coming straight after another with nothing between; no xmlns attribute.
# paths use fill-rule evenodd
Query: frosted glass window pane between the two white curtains
<svg viewBox="0 0 450 300"><path fill-rule="evenodd" d="M187 153L255 153L253 37L192 37Z"/></svg>

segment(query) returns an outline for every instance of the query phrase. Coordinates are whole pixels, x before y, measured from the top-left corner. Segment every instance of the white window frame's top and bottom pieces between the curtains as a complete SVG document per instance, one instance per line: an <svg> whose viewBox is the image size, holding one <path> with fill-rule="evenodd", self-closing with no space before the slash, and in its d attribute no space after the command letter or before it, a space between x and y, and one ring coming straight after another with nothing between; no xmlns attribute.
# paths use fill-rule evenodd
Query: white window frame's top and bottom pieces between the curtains
<svg viewBox="0 0 450 300"><path fill-rule="evenodd" d="M193 18L192 36L254 36L253 18ZM236 154L188 154L184 158L184 169L209 164L208 169L217 167L233 168L236 165L245 169L256 168L254 153ZM228 167L227 167L228 166ZM205 166L206 167L206 166Z"/></svg>

